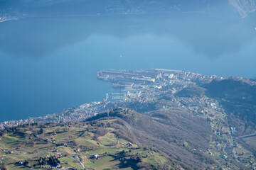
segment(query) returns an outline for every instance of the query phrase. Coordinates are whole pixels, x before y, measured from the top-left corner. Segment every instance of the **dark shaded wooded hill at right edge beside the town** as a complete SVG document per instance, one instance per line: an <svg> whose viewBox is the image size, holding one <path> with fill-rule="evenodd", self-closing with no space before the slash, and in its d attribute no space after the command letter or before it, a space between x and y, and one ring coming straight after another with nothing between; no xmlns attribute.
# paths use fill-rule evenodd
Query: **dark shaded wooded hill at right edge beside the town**
<svg viewBox="0 0 256 170"><path fill-rule="evenodd" d="M206 95L217 98L225 112L230 116L230 125L238 129L240 135L252 133L256 122L255 81L230 78L215 80L204 84ZM232 118L231 118L232 117Z"/></svg>

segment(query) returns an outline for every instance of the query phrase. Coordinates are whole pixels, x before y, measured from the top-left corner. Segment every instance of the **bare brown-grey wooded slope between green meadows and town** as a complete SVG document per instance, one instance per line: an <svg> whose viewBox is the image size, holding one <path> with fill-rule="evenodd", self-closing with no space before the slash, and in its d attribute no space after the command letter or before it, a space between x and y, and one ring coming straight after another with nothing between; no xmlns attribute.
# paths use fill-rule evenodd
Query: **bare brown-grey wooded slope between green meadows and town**
<svg viewBox="0 0 256 170"><path fill-rule="evenodd" d="M171 164L185 169L203 169L206 163L214 162L199 151L208 147L207 139L212 134L206 120L182 111L140 114L127 108L114 109L109 116L116 119L112 127L117 129L119 136L140 147L159 150L169 158ZM87 121L99 119L107 119L107 113L98 114Z"/></svg>

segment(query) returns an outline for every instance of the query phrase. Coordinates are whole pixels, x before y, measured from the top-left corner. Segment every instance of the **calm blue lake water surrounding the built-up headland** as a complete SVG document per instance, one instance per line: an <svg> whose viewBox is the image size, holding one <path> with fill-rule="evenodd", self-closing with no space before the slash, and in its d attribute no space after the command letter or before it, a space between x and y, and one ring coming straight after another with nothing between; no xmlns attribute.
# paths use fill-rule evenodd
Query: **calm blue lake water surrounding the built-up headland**
<svg viewBox="0 0 256 170"><path fill-rule="evenodd" d="M114 92L102 69L256 78L256 21L26 18L0 23L0 121L56 113Z"/></svg>

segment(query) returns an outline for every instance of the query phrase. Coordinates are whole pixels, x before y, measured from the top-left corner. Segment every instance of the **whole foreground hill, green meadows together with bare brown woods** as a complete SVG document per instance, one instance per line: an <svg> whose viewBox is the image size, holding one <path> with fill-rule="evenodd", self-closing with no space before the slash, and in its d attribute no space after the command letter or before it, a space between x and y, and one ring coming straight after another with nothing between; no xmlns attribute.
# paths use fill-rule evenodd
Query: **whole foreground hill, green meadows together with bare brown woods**
<svg viewBox="0 0 256 170"><path fill-rule="evenodd" d="M208 152L217 155L213 143L219 141L208 121L182 108L144 114L116 108L85 121L5 128L0 140L1 167L218 169L223 159Z"/></svg>

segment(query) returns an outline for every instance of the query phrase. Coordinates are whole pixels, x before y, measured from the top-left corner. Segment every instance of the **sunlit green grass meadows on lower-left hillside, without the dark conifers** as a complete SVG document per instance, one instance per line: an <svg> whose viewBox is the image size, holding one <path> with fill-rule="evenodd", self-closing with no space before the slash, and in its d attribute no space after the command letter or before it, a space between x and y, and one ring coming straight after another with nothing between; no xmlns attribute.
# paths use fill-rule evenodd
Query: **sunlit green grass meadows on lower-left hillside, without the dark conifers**
<svg viewBox="0 0 256 170"><path fill-rule="evenodd" d="M112 123L114 120L103 120L102 123ZM90 129L87 129L89 128ZM26 128L26 127L25 127ZM134 169L136 162L132 163L134 155L144 157L142 162L156 165L163 164L166 159L159 153L150 153L149 150L139 149L136 144L127 147L129 141L118 138L114 129L107 128L108 132L95 138L97 127L84 125L81 128L75 126L55 125L50 128L29 127L23 132L7 132L0 140L0 157L4 157L0 168L6 169L41 169L39 159L46 157L46 165L50 166L48 157L60 155L58 161L61 167L82 169ZM77 150L79 152L77 152ZM9 153L10 152L10 153ZM92 159L93 154L98 154L98 159ZM77 156L75 156L77 155ZM77 159L80 164L75 160ZM136 156L137 157L137 156ZM120 161L120 160L123 161ZM131 166L125 165L130 162ZM28 161L24 166L19 161Z"/></svg>

